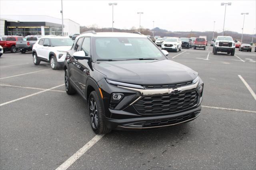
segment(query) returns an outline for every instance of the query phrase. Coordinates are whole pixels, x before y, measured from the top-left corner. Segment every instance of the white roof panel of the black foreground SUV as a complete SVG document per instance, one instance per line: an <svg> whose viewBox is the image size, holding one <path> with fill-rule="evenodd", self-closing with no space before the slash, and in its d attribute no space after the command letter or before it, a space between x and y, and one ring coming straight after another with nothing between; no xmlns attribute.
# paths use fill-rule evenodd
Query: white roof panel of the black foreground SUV
<svg viewBox="0 0 256 170"><path fill-rule="evenodd" d="M83 36L90 36L90 37L133 37L133 38L147 38L147 36L140 35L140 34L133 34L133 33L126 33L126 32L97 32L96 34L93 33L84 33L77 38Z"/></svg>

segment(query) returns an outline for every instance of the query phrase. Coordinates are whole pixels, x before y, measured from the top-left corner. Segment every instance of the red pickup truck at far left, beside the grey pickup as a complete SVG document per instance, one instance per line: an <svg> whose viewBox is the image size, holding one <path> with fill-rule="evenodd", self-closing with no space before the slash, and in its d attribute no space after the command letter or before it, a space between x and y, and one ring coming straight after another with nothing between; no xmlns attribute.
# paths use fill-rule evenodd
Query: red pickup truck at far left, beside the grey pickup
<svg viewBox="0 0 256 170"><path fill-rule="evenodd" d="M16 52L16 41L24 41L24 37L21 36L7 36L5 41L0 41L0 45L4 48L4 51ZM26 41L26 39L25 39Z"/></svg>

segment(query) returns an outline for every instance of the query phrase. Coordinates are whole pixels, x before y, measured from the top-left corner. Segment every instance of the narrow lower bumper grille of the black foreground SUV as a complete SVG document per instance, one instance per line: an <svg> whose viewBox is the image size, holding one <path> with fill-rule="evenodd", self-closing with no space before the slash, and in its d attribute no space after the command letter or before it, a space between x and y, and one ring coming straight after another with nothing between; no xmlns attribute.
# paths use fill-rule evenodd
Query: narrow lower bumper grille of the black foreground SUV
<svg viewBox="0 0 256 170"><path fill-rule="evenodd" d="M188 119L192 119L194 117L194 113L189 113L180 117L174 117L169 119L157 119L154 121L146 121L143 127L155 127L155 126L164 126L164 125L172 125L175 123L180 123L187 121Z"/></svg>

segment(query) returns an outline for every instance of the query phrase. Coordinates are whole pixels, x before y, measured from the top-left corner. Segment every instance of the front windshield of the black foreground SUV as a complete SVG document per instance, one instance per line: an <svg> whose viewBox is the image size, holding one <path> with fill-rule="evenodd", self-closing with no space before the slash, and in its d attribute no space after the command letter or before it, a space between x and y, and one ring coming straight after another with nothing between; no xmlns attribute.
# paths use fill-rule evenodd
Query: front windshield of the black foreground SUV
<svg viewBox="0 0 256 170"><path fill-rule="evenodd" d="M98 59L166 59L147 38L97 37L93 44Z"/></svg>

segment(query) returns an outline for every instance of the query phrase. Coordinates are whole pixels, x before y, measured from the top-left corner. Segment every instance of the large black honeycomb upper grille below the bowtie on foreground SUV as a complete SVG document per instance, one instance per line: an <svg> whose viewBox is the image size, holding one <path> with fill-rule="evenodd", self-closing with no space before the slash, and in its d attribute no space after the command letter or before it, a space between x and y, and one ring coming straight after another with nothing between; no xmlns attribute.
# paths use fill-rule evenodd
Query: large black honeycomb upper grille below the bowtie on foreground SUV
<svg viewBox="0 0 256 170"><path fill-rule="evenodd" d="M134 103L140 114L176 113L189 109L198 101L197 91L191 90L178 94L144 96Z"/></svg>

